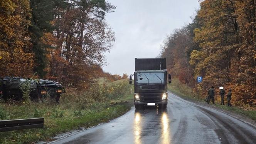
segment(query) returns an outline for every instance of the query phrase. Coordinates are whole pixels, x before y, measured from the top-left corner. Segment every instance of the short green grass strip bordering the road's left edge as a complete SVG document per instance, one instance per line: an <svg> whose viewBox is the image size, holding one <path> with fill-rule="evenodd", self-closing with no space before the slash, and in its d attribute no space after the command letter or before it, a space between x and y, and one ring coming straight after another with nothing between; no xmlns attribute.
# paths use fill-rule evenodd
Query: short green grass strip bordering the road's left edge
<svg viewBox="0 0 256 144"><path fill-rule="evenodd" d="M84 111L80 116L70 119L46 118L44 129L27 129L20 131L1 132L0 143L32 143L36 141L49 141L50 137L57 134L78 129L79 127L96 126L101 122L108 122L121 116L130 109L129 104L116 104L98 112Z"/></svg>

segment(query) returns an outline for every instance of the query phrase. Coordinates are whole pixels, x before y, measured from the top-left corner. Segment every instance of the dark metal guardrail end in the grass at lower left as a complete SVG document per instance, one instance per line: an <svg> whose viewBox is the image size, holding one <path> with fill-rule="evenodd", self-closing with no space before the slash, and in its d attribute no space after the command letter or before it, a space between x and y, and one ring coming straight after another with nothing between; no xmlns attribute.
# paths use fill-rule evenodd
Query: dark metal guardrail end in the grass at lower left
<svg viewBox="0 0 256 144"><path fill-rule="evenodd" d="M44 117L34 119L15 119L0 121L0 132L19 129L32 129L39 127L44 127Z"/></svg>

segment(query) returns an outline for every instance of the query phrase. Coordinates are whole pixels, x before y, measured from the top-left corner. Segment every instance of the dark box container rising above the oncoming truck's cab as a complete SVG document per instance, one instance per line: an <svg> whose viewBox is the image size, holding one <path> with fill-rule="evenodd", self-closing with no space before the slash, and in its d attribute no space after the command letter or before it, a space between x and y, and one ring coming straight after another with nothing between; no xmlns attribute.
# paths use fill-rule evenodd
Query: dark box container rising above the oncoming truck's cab
<svg viewBox="0 0 256 144"><path fill-rule="evenodd" d="M166 58L137 59L135 58L135 71L137 70L166 70Z"/></svg>

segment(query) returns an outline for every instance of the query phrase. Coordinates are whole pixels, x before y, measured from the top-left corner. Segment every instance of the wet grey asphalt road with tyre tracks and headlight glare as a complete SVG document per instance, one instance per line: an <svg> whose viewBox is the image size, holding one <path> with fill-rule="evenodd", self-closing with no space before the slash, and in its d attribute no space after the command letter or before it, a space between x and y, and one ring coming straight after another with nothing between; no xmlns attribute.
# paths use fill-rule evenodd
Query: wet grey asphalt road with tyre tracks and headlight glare
<svg viewBox="0 0 256 144"><path fill-rule="evenodd" d="M256 144L256 129L168 93L167 110L146 107L56 142L65 144Z"/></svg>

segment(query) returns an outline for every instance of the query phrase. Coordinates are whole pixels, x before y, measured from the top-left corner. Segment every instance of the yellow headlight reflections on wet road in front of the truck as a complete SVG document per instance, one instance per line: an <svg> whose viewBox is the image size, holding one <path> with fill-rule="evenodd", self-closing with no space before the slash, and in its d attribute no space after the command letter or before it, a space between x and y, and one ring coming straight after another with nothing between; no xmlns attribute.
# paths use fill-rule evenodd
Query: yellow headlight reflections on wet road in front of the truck
<svg viewBox="0 0 256 144"><path fill-rule="evenodd" d="M151 122L151 123L150 123ZM146 108L136 110L134 115L133 136L134 143L157 142L169 144L170 137L170 120L167 110L158 110L156 108ZM149 139L156 136L157 139Z"/></svg>

